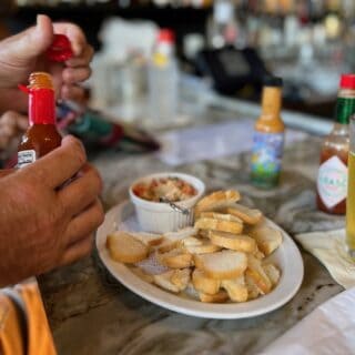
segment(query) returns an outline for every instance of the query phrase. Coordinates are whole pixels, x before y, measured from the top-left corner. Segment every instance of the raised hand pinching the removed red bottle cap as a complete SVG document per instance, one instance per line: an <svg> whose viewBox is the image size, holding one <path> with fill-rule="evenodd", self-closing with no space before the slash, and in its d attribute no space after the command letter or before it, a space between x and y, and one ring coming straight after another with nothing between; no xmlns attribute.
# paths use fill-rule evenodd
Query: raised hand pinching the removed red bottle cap
<svg viewBox="0 0 355 355"><path fill-rule="evenodd" d="M54 33L65 34L71 42L74 55L64 63L51 62L45 57ZM14 89L19 83L27 83L31 72L47 71L53 75L60 97L74 100L82 95L78 83L91 74L92 57L93 49L78 26L52 23L40 14L36 27L0 42L0 88Z"/></svg>

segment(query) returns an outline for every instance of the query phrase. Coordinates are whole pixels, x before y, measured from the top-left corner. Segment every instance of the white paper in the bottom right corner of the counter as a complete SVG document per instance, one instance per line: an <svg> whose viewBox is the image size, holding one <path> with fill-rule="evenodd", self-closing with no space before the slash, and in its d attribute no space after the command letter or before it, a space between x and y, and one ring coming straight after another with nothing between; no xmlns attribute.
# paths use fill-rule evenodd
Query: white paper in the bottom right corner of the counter
<svg viewBox="0 0 355 355"><path fill-rule="evenodd" d="M315 308L261 354L355 354L355 287Z"/></svg>

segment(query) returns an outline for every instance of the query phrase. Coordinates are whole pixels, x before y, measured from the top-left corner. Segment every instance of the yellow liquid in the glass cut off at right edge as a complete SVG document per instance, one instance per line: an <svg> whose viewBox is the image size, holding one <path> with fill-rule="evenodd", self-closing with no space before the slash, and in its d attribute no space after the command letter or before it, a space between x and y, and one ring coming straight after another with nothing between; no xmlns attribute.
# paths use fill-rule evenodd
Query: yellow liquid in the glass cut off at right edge
<svg viewBox="0 0 355 355"><path fill-rule="evenodd" d="M355 153L348 154L348 187L346 199L346 244L355 258Z"/></svg>

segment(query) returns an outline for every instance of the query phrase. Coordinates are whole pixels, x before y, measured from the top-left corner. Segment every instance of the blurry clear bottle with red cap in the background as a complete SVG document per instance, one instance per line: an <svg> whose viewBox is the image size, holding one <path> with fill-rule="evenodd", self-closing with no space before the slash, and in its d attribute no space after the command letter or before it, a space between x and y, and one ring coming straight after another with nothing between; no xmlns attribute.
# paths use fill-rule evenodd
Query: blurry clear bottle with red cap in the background
<svg viewBox="0 0 355 355"><path fill-rule="evenodd" d="M161 29L148 68L148 106L145 124L162 128L178 122L179 69L175 59L175 37Z"/></svg>

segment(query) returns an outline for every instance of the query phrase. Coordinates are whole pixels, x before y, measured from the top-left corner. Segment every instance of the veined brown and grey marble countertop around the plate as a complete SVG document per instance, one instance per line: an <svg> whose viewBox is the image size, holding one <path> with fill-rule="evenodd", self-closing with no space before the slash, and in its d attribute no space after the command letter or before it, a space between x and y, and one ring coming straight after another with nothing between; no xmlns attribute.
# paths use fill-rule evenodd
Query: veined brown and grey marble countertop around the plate
<svg viewBox="0 0 355 355"><path fill-rule="evenodd" d="M250 185L250 153L181 165L176 170L202 179L210 191L235 187L291 235L337 229L344 217L315 206L315 176L321 140L286 146L277 189ZM104 152L92 162L104 180L106 210L128 197L139 176L171 170L155 155ZM339 293L328 272L302 252L305 276L296 296L263 316L237 321L204 320L156 306L126 290L101 264L97 252L74 265L42 276L40 286L59 354L73 355L227 355L257 354L317 305Z"/></svg>

